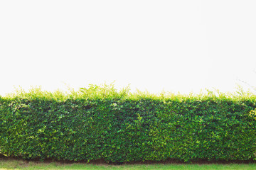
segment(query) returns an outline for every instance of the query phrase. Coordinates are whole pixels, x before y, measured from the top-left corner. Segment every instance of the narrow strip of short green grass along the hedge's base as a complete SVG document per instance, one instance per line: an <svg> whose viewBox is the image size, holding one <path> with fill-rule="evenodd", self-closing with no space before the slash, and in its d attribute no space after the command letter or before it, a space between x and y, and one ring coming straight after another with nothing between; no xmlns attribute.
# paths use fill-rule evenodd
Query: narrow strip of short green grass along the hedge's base
<svg viewBox="0 0 256 170"><path fill-rule="evenodd" d="M23 160L0 159L0 170L9 169L256 169L256 164L129 164L129 165L107 165L107 164L63 164L58 162L25 162Z"/></svg>

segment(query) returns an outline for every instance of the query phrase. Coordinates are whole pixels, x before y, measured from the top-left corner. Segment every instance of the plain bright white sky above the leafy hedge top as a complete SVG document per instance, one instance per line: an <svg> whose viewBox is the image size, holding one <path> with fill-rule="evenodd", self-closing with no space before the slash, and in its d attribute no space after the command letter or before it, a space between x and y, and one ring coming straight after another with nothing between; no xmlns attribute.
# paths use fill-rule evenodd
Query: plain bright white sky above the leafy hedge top
<svg viewBox="0 0 256 170"><path fill-rule="evenodd" d="M256 1L0 1L0 94L256 86ZM65 84L64 84L65 83ZM240 83L241 84L241 83Z"/></svg>

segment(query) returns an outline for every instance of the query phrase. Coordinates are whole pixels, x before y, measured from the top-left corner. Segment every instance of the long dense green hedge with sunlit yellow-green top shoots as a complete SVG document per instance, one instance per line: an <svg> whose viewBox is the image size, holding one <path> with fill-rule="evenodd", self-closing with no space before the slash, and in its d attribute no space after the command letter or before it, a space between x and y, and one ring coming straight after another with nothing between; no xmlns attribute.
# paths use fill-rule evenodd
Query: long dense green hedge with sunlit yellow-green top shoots
<svg viewBox="0 0 256 170"><path fill-rule="evenodd" d="M256 97L90 85L0 97L0 154L106 162L256 160Z"/></svg>

